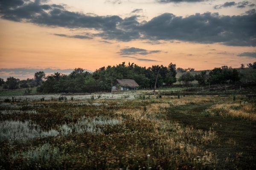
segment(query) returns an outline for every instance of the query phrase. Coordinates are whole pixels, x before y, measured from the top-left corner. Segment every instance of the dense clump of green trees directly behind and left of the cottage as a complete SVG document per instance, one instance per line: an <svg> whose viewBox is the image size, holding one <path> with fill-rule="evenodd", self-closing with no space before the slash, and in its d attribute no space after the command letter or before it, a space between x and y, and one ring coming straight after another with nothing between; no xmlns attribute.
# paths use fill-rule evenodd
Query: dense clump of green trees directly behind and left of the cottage
<svg viewBox="0 0 256 170"><path fill-rule="evenodd" d="M108 66L97 69L93 73L84 72L82 68L76 68L70 75L55 73L47 76L47 80L38 88L43 93L77 93L96 91L111 91L111 85L116 85L116 79L134 79L141 88L154 86L157 73L157 87L172 85L176 82L176 65L170 63L168 67L152 65L152 67L140 67L134 63L125 62L116 66Z"/></svg>

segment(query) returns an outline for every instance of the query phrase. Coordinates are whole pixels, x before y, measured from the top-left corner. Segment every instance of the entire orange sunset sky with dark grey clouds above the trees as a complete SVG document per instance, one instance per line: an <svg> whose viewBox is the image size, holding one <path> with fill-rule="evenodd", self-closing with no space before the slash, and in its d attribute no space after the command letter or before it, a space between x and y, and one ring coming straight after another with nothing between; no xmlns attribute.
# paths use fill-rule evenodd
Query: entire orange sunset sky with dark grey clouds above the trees
<svg viewBox="0 0 256 170"><path fill-rule="evenodd" d="M256 0L0 0L0 77L256 61Z"/></svg>

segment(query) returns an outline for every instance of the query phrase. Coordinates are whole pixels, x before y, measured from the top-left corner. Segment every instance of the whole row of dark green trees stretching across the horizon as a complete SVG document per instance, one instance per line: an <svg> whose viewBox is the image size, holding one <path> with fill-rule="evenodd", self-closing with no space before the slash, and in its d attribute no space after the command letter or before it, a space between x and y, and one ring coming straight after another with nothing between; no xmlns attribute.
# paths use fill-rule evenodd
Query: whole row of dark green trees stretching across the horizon
<svg viewBox="0 0 256 170"><path fill-rule="evenodd" d="M256 68L256 62L247 64L250 68ZM241 68L243 69L241 64ZM184 72L186 70L186 72ZM116 79L134 79L140 88L153 88L156 81L157 87L163 85L170 86L175 82L182 82L185 86L192 85L197 81L199 86L208 84L235 84L240 81L241 74L236 68L226 65L221 68L214 68L209 71L201 71L193 75L190 72L193 68L176 68L176 65L170 63L167 67L163 65L152 65L151 67L141 67L134 63L107 66L97 69L94 72L84 71L82 68L75 68L69 75L55 73L46 77L44 71L35 72L33 79L20 80L14 77L8 77L6 81L0 78L0 85L6 89L37 87L41 93L84 93L96 91L111 91L111 85L116 83ZM177 71L183 74L177 79ZM44 80L45 79L45 80Z"/></svg>

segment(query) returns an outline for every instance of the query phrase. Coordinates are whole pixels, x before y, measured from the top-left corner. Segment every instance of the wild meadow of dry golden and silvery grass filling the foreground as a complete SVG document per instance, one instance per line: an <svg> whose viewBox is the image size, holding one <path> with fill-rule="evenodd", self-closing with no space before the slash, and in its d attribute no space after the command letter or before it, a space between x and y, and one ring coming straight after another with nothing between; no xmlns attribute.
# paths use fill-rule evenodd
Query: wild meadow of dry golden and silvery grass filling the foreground
<svg viewBox="0 0 256 170"><path fill-rule="evenodd" d="M1 102L0 120L0 169L256 168L244 95Z"/></svg>

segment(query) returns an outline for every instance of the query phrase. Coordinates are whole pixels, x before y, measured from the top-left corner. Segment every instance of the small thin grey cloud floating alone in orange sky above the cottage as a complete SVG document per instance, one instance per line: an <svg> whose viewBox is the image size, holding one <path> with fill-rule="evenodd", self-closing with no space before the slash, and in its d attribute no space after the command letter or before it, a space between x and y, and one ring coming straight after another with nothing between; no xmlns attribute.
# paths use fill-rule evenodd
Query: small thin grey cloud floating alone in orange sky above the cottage
<svg viewBox="0 0 256 170"><path fill-rule="evenodd" d="M161 52L160 50L153 50L153 51L148 51L143 48L122 48L120 50L120 55L148 55L148 54L153 54L153 53L159 53Z"/></svg>

